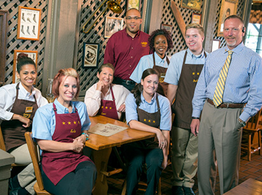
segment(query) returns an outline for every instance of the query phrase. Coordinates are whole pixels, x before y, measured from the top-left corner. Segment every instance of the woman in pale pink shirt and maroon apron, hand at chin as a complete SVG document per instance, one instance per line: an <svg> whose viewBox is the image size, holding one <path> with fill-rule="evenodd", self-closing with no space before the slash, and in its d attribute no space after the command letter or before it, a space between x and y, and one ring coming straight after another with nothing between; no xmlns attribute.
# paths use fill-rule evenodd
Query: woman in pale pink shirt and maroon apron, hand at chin
<svg viewBox="0 0 262 195"><path fill-rule="evenodd" d="M99 81L91 86L85 95L85 104L89 116L103 115L119 120L125 112L125 100L130 93L122 85L112 84L115 68L112 64L103 64L97 72Z"/></svg>

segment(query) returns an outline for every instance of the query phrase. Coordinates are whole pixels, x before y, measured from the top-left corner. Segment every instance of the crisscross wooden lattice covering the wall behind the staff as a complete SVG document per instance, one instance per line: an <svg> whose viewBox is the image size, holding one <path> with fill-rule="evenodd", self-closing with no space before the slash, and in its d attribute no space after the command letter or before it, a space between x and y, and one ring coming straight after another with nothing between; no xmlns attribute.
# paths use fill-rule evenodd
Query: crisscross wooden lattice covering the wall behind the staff
<svg viewBox="0 0 262 195"><path fill-rule="evenodd" d="M141 9L143 10L143 6L150 0L141 0ZM185 21L186 24L191 22L192 12L203 14L203 2L208 0L202 0L202 7L200 11L181 8L181 0L175 0L179 11ZM215 13L216 22L215 28L212 32L213 37L221 40L221 46L225 45L225 41L223 37L216 37L218 20L219 20L219 10L221 7L221 1L217 1L217 11ZM124 13L126 10L126 1L121 1L121 7L123 12L121 14L114 14L112 11L106 10L100 19L96 22L94 27L90 30L88 34L84 34L82 32L82 27L86 23L86 21L90 18L94 10L101 4L101 0L83 0L81 5L81 17L80 17L80 33L79 33L79 43L78 43L78 54L77 54L77 71L80 74L80 96L84 96L85 91L92 86L96 81L96 73L97 69L83 69L82 65L82 55L83 55L83 42L94 42L100 44L99 50L99 67L102 65L104 60L104 49L106 47L108 38L104 38L104 25L105 25L105 17L122 17L124 18ZM245 0L239 0L237 14L239 16L243 16L244 13L244 3ZM37 83L36 87L38 89L42 88L42 79L43 79L43 66L44 66L44 51L45 51L45 43L46 43L46 29L47 29L47 12L48 12L48 0L0 0L0 9L8 10L8 28L7 28L7 46L6 46L6 66L5 66L5 84L12 83L12 75L13 75L13 54L14 50L32 50L38 51L38 60L37 60ZM40 40L39 41L28 41L28 40L17 40L17 19L18 19L18 6L25 6L31 8L41 9L41 24L40 24ZM97 16L106 9L106 4L104 4L99 11L93 16L89 25L97 18ZM212 13L213 14L213 13ZM204 16L202 16L202 20ZM175 21L173 13L170 8L170 0L163 0L162 7L162 18L161 23L171 24L172 25L172 38L174 42L174 48L172 51L168 52L168 55L172 55L175 52L179 52L181 50L186 49L185 41L182 37L181 31ZM124 25L125 27L125 25Z"/></svg>

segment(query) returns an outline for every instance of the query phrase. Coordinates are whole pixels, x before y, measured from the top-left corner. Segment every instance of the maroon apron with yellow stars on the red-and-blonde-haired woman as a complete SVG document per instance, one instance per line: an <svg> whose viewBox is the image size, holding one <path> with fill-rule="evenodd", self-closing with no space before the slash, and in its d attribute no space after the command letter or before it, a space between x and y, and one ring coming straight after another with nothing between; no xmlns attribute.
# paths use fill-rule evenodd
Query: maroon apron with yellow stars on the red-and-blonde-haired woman
<svg viewBox="0 0 262 195"><path fill-rule="evenodd" d="M55 132L52 140L64 143L72 143L73 139L81 135L81 121L75 108L75 113L57 114L55 111ZM73 151L42 152L42 168L46 176L56 185L66 174L74 171L77 165L83 161L91 161L83 153Z"/></svg>

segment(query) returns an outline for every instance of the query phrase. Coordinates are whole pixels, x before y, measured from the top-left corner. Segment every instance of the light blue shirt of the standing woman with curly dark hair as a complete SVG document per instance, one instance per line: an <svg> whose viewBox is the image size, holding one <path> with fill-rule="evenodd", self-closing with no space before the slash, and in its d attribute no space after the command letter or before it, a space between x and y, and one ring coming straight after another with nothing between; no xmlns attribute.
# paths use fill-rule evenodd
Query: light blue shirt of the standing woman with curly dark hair
<svg viewBox="0 0 262 195"><path fill-rule="evenodd" d="M156 60L155 61L156 66L168 68L168 64L167 64L166 59L169 58L169 57L165 56L164 59L161 59L156 52L154 52L154 56L155 56L155 60ZM142 58L140 58L140 61L138 62L133 73L131 74L130 79L135 81L136 83L140 83L144 70L146 70L148 68L153 68L153 66L154 66L153 54L144 55Z"/></svg>

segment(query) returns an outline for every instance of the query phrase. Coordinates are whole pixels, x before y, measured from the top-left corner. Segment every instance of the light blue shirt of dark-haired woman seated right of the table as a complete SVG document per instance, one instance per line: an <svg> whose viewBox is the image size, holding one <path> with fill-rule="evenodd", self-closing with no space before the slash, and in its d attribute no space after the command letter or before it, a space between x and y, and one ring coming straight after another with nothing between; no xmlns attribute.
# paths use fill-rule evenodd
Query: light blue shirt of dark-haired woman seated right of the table
<svg viewBox="0 0 262 195"><path fill-rule="evenodd" d="M156 101L156 96L158 95L158 102L160 106L160 129L170 131L171 130L171 107L168 99L158 93L155 93L151 102L148 103L143 94L141 94L141 104L138 108L149 112L154 113L158 111L158 105ZM126 123L128 124L131 120L138 121L138 115L136 112L136 100L134 98L134 94L129 94L126 98Z"/></svg>

